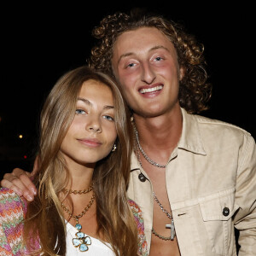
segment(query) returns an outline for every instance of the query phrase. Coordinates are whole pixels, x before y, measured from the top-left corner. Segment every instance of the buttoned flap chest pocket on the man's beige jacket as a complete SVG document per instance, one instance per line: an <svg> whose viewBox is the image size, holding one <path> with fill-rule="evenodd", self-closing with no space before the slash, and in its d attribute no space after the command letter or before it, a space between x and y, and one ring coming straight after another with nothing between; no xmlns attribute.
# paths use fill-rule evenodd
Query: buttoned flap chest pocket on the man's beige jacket
<svg viewBox="0 0 256 256"><path fill-rule="evenodd" d="M232 217L239 208L235 205L235 188L199 199L201 216L212 248L219 255L228 255L235 246Z"/></svg>

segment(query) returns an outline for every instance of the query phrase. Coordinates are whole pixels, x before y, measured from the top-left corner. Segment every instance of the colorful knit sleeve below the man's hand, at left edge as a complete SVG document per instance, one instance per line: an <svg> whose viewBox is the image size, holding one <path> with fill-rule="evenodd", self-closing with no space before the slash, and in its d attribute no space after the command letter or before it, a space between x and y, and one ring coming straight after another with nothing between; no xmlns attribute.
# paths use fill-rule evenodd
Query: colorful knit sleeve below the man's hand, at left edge
<svg viewBox="0 0 256 256"><path fill-rule="evenodd" d="M21 255L26 201L10 189L0 189L0 255Z"/></svg>

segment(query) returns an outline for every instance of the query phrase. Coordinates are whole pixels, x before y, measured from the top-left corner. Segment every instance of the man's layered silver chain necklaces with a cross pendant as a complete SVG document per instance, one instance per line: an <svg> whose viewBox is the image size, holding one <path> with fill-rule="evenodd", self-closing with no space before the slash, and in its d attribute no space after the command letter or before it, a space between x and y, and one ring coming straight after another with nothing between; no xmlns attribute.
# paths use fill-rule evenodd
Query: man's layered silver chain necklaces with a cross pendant
<svg viewBox="0 0 256 256"><path fill-rule="evenodd" d="M151 164L152 166L156 166L156 167L159 167L159 168L166 168L166 165L160 165L158 163L156 163L154 160L150 159L148 157L148 155L144 152L140 142L139 142L139 138L138 138L138 134L137 134L137 129L136 129L136 126L135 124L133 123L133 129L134 129L134 134L135 134L135 137L136 137L136 144L137 144L137 147L136 147L136 153L137 153L137 160L139 161L139 164L140 166L142 166L143 168L143 163L142 163L142 160L141 160L141 157L140 157L140 152L143 154L143 157L145 158L145 160L148 161L149 164ZM175 227L174 227L174 221L173 221L173 218L172 218L172 214L167 212L166 209L162 206L162 204L160 203L160 201L158 200L158 198L156 197L156 195L154 194L154 191L153 191L153 197L154 197L154 200L156 201L156 203L160 206L160 209L162 210L162 212L164 212L166 214L166 216L168 218L171 219L171 224L166 224L166 229L171 229L171 236L160 236L155 230L154 228L152 227L152 233L154 234L154 236L157 236L158 238L162 239L162 240L174 240L174 237L175 237Z"/></svg>

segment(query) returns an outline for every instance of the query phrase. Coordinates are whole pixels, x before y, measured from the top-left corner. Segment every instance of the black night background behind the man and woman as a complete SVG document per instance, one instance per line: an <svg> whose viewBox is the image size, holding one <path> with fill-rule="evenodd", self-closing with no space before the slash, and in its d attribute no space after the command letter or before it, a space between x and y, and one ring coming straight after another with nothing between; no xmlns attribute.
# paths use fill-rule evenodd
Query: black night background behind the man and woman
<svg viewBox="0 0 256 256"><path fill-rule="evenodd" d="M252 4L5 3L1 7L0 178L15 167L31 170L45 96L63 73L85 64L94 44L91 30L102 17L131 7L160 12L195 34L205 45L213 84L211 110L201 114L238 125L256 137Z"/></svg>

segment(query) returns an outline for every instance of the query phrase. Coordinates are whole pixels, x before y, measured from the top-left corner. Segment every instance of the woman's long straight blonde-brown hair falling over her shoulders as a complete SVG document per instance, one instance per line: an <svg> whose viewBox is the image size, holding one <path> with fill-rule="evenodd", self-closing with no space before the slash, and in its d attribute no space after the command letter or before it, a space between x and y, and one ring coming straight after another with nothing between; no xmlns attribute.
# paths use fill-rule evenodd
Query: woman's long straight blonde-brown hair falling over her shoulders
<svg viewBox="0 0 256 256"><path fill-rule="evenodd" d="M130 177L131 124L117 85L106 74L89 67L78 67L59 79L44 103L41 113L38 147L38 188L29 203L24 225L24 241L33 251L33 241L40 242L39 253L65 255L66 229L58 197L67 185L67 166L61 156L61 143L72 124L82 84L94 79L113 92L117 150L96 163L93 173L98 230L112 245L116 255L137 254L137 226L127 203L126 189Z"/></svg>

